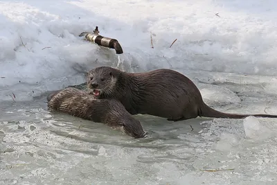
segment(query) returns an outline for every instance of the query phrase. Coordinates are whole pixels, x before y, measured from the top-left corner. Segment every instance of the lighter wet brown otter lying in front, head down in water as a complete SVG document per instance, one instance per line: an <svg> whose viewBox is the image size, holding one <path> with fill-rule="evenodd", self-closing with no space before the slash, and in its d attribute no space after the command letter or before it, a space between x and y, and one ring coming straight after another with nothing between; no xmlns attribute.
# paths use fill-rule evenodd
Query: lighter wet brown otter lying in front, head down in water
<svg viewBox="0 0 277 185"><path fill-rule="evenodd" d="M140 121L132 117L118 100L98 100L72 87L55 91L47 96L48 109L77 116L97 123L105 123L129 136L146 136Z"/></svg>

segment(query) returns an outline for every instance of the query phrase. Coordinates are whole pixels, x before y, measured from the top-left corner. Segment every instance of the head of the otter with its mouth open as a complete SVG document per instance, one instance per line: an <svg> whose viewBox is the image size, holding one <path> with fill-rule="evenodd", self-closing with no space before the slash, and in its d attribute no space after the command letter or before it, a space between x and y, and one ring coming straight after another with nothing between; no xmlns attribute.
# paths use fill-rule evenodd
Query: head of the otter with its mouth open
<svg viewBox="0 0 277 185"><path fill-rule="evenodd" d="M111 67L97 67L87 74L87 87L95 98L113 96L118 70Z"/></svg>

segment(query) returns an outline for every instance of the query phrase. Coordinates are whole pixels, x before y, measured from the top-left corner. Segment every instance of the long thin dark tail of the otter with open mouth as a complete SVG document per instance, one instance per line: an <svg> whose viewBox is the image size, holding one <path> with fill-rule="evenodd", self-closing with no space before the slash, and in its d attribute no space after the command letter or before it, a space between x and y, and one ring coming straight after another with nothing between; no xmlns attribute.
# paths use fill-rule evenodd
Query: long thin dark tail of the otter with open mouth
<svg viewBox="0 0 277 185"><path fill-rule="evenodd" d="M219 112L211 107L208 107L208 105L206 105L205 103L203 103L202 107L200 107L198 116L210 117L210 118L246 118L247 116L277 118L277 115L271 115L271 114L229 114L229 113Z"/></svg>

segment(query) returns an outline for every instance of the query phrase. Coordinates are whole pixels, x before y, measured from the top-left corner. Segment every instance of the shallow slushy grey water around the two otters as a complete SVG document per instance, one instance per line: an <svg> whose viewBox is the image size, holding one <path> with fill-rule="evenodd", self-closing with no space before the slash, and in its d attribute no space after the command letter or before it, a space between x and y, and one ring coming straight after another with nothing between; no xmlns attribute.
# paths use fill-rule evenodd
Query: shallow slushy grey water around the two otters
<svg viewBox="0 0 277 185"><path fill-rule="evenodd" d="M256 84L254 76L244 77L244 85L234 83L236 79L205 82L203 78L197 85L216 109L264 113L262 103L267 103L266 112L276 113L276 92L269 91L275 86L267 77ZM209 89L218 96L209 96ZM274 118L195 118L172 123L137 115L150 134L132 139L101 123L50 113L45 96L1 103L0 111L0 184L277 182ZM220 171L203 171L216 169Z"/></svg>

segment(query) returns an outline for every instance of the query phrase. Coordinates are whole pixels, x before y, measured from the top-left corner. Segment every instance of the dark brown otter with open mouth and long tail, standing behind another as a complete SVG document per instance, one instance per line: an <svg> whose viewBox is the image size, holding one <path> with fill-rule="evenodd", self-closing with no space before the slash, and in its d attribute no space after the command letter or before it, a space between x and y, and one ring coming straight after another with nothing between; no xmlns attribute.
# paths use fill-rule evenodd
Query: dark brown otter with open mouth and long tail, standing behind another
<svg viewBox="0 0 277 185"><path fill-rule="evenodd" d="M181 121L197 116L214 118L245 118L269 114L228 114L208 107L196 85L183 74L171 69L145 73L126 73L111 67L89 71L87 85L95 98L115 98L130 114L150 114Z"/></svg>

